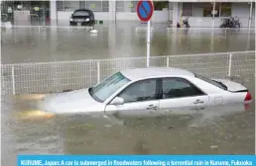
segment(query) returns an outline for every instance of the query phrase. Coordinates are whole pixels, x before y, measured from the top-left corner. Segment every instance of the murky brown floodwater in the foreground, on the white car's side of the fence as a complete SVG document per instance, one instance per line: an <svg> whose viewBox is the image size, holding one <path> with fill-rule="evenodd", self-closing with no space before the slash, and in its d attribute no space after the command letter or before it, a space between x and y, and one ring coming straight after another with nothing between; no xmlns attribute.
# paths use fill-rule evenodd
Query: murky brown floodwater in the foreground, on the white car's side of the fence
<svg viewBox="0 0 256 166"><path fill-rule="evenodd" d="M254 77L237 80L255 98ZM37 98L2 98L2 164L17 154L254 154L255 107L217 110L217 116L90 118L47 116L36 111ZM239 110L241 109L241 110ZM121 121L121 123L119 123ZM8 163L8 164L7 164Z"/></svg>

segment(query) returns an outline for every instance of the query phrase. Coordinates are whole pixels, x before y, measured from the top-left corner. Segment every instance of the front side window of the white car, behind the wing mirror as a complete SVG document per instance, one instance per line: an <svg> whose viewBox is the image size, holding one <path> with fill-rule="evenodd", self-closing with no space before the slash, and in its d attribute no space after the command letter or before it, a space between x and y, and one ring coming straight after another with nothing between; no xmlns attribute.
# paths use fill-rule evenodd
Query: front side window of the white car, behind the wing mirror
<svg viewBox="0 0 256 166"><path fill-rule="evenodd" d="M128 86L118 96L124 99L124 103L155 100L156 85L156 79L138 81Z"/></svg>

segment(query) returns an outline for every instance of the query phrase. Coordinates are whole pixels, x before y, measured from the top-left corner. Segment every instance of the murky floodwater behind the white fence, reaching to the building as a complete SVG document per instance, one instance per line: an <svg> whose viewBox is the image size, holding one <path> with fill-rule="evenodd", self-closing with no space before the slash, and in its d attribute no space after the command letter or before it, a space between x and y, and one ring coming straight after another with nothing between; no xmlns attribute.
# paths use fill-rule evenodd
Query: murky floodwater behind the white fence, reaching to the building
<svg viewBox="0 0 256 166"><path fill-rule="evenodd" d="M255 49L255 31L241 29L167 29L153 25L151 55ZM17 28L2 31L2 63L80 60L146 55L146 25L97 25L98 34L82 28Z"/></svg>

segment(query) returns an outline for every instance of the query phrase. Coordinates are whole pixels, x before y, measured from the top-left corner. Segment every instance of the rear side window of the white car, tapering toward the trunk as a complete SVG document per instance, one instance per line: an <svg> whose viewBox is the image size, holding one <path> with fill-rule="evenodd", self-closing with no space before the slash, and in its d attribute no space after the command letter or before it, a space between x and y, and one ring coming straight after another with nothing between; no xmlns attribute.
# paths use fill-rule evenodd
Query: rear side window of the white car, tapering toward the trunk
<svg viewBox="0 0 256 166"><path fill-rule="evenodd" d="M191 82L183 78L163 79L163 99L182 98L204 95Z"/></svg>

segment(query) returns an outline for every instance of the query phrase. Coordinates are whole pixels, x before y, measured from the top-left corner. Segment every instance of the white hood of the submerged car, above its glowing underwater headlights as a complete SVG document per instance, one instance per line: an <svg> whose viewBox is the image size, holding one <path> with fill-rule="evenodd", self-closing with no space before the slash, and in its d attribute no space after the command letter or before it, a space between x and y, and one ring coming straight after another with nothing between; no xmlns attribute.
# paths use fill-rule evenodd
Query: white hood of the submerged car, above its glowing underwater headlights
<svg viewBox="0 0 256 166"><path fill-rule="evenodd" d="M104 112L104 104L95 101L88 89L48 95L40 108L57 114Z"/></svg>

